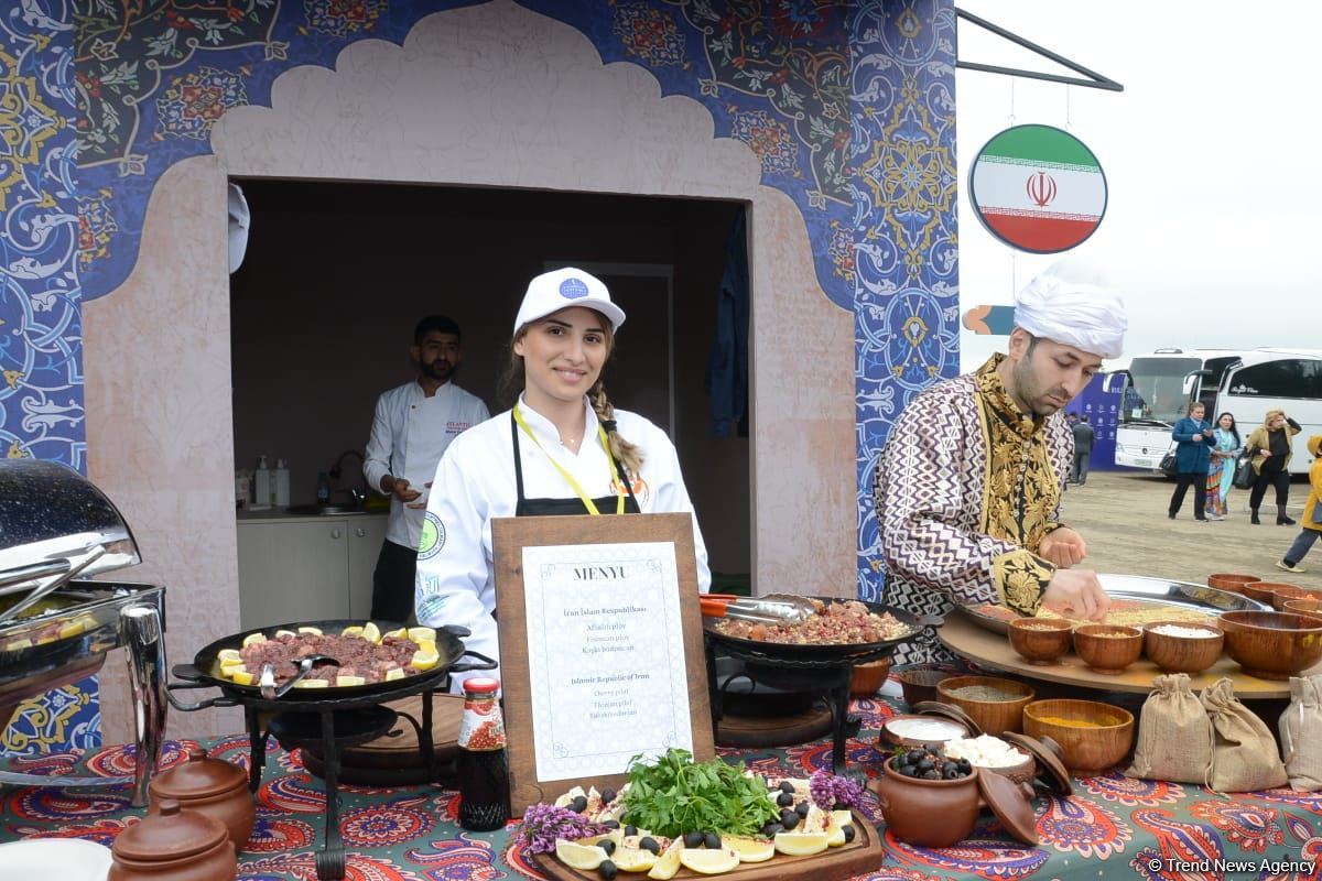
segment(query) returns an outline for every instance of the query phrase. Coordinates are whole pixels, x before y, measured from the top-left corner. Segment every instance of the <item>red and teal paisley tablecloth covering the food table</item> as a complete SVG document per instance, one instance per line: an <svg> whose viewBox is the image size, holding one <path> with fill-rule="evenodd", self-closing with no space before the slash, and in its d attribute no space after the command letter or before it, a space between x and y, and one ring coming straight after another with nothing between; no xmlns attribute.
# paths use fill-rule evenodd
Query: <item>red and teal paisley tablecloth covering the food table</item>
<svg viewBox="0 0 1322 881"><path fill-rule="evenodd" d="M875 767L882 754L875 730L898 712L898 701L855 701L863 736L849 744L851 766ZM192 741L171 741L165 763L182 759ZM249 763L247 738L202 744L213 756ZM127 774L131 748L86 756L58 753L11 761L15 770L44 774ZM795 775L830 766L830 744L787 749L722 749L730 761ZM1319 878L1322 796L1290 790L1222 796L1198 786L1132 781L1118 771L1075 781L1075 795L1042 794L1035 806L1040 844L1025 847L984 815L958 847L915 848L886 836L887 857L869 881L919 878ZM123 790L5 789L0 841L20 837L85 837L110 845L141 810ZM539 877L530 868L514 827L492 833L463 831L457 795L438 786L368 789L344 786L341 819L354 881L442 881ZM239 861L239 877L312 880L325 803L321 781L311 778L299 753L268 746L258 822ZM869 794L865 812L880 819ZM623 877L623 876L621 876ZM642 877L642 876L639 876Z"/></svg>

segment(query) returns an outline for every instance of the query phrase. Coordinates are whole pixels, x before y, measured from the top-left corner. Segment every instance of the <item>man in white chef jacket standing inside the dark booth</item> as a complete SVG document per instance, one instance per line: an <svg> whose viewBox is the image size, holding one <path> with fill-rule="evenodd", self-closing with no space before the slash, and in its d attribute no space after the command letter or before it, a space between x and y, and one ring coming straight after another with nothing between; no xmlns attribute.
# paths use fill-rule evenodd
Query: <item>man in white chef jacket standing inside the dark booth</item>
<svg viewBox="0 0 1322 881"><path fill-rule="evenodd" d="M408 357L418 378L377 399L371 437L364 456L368 486L390 497L386 540L371 573L371 617L407 621L412 613L418 543L436 462L460 432L485 421L490 412L480 398L453 382L463 361L459 325L428 316L414 329Z"/></svg>

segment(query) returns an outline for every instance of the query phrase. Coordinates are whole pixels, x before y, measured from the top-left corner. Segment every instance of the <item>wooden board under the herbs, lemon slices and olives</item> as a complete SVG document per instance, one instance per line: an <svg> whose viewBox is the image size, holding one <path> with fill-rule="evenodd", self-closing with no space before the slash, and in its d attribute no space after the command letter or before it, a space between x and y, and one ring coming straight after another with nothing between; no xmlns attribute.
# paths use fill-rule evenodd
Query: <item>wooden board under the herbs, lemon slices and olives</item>
<svg viewBox="0 0 1322 881"><path fill-rule="evenodd" d="M854 815L854 840L838 848L828 848L813 856L785 856L777 853L765 863L740 863L724 874L699 874L693 869L680 866L676 878L730 878L731 881L845 881L855 874L866 874L882 868L886 851L882 849L882 835L873 822L858 811ZM584 872L571 869L554 853L529 853L529 859L543 876L551 881L602 881L602 874L594 869ZM646 878L645 872L621 872L621 878Z"/></svg>

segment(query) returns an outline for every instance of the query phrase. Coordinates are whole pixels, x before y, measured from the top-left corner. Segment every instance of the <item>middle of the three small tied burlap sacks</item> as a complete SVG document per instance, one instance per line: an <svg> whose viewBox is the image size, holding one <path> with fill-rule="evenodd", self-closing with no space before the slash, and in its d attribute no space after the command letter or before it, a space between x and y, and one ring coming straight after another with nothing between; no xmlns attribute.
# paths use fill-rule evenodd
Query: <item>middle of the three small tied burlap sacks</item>
<svg viewBox="0 0 1322 881"><path fill-rule="evenodd" d="M1212 720L1211 787L1218 793L1252 793L1285 786L1285 765L1276 738L1261 719L1235 696L1229 679L1203 689L1203 708Z"/></svg>

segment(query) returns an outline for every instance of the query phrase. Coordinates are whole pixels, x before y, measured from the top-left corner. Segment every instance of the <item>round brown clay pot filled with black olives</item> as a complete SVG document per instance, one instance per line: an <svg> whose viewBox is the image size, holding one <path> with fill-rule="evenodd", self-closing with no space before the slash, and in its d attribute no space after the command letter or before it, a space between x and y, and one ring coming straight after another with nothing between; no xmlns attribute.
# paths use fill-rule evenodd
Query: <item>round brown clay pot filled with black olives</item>
<svg viewBox="0 0 1322 881"><path fill-rule="evenodd" d="M947 848L968 837L978 819L980 770L957 781L920 781L904 777L894 763L886 759L882 775L870 783L891 835L924 848Z"/></svg>

